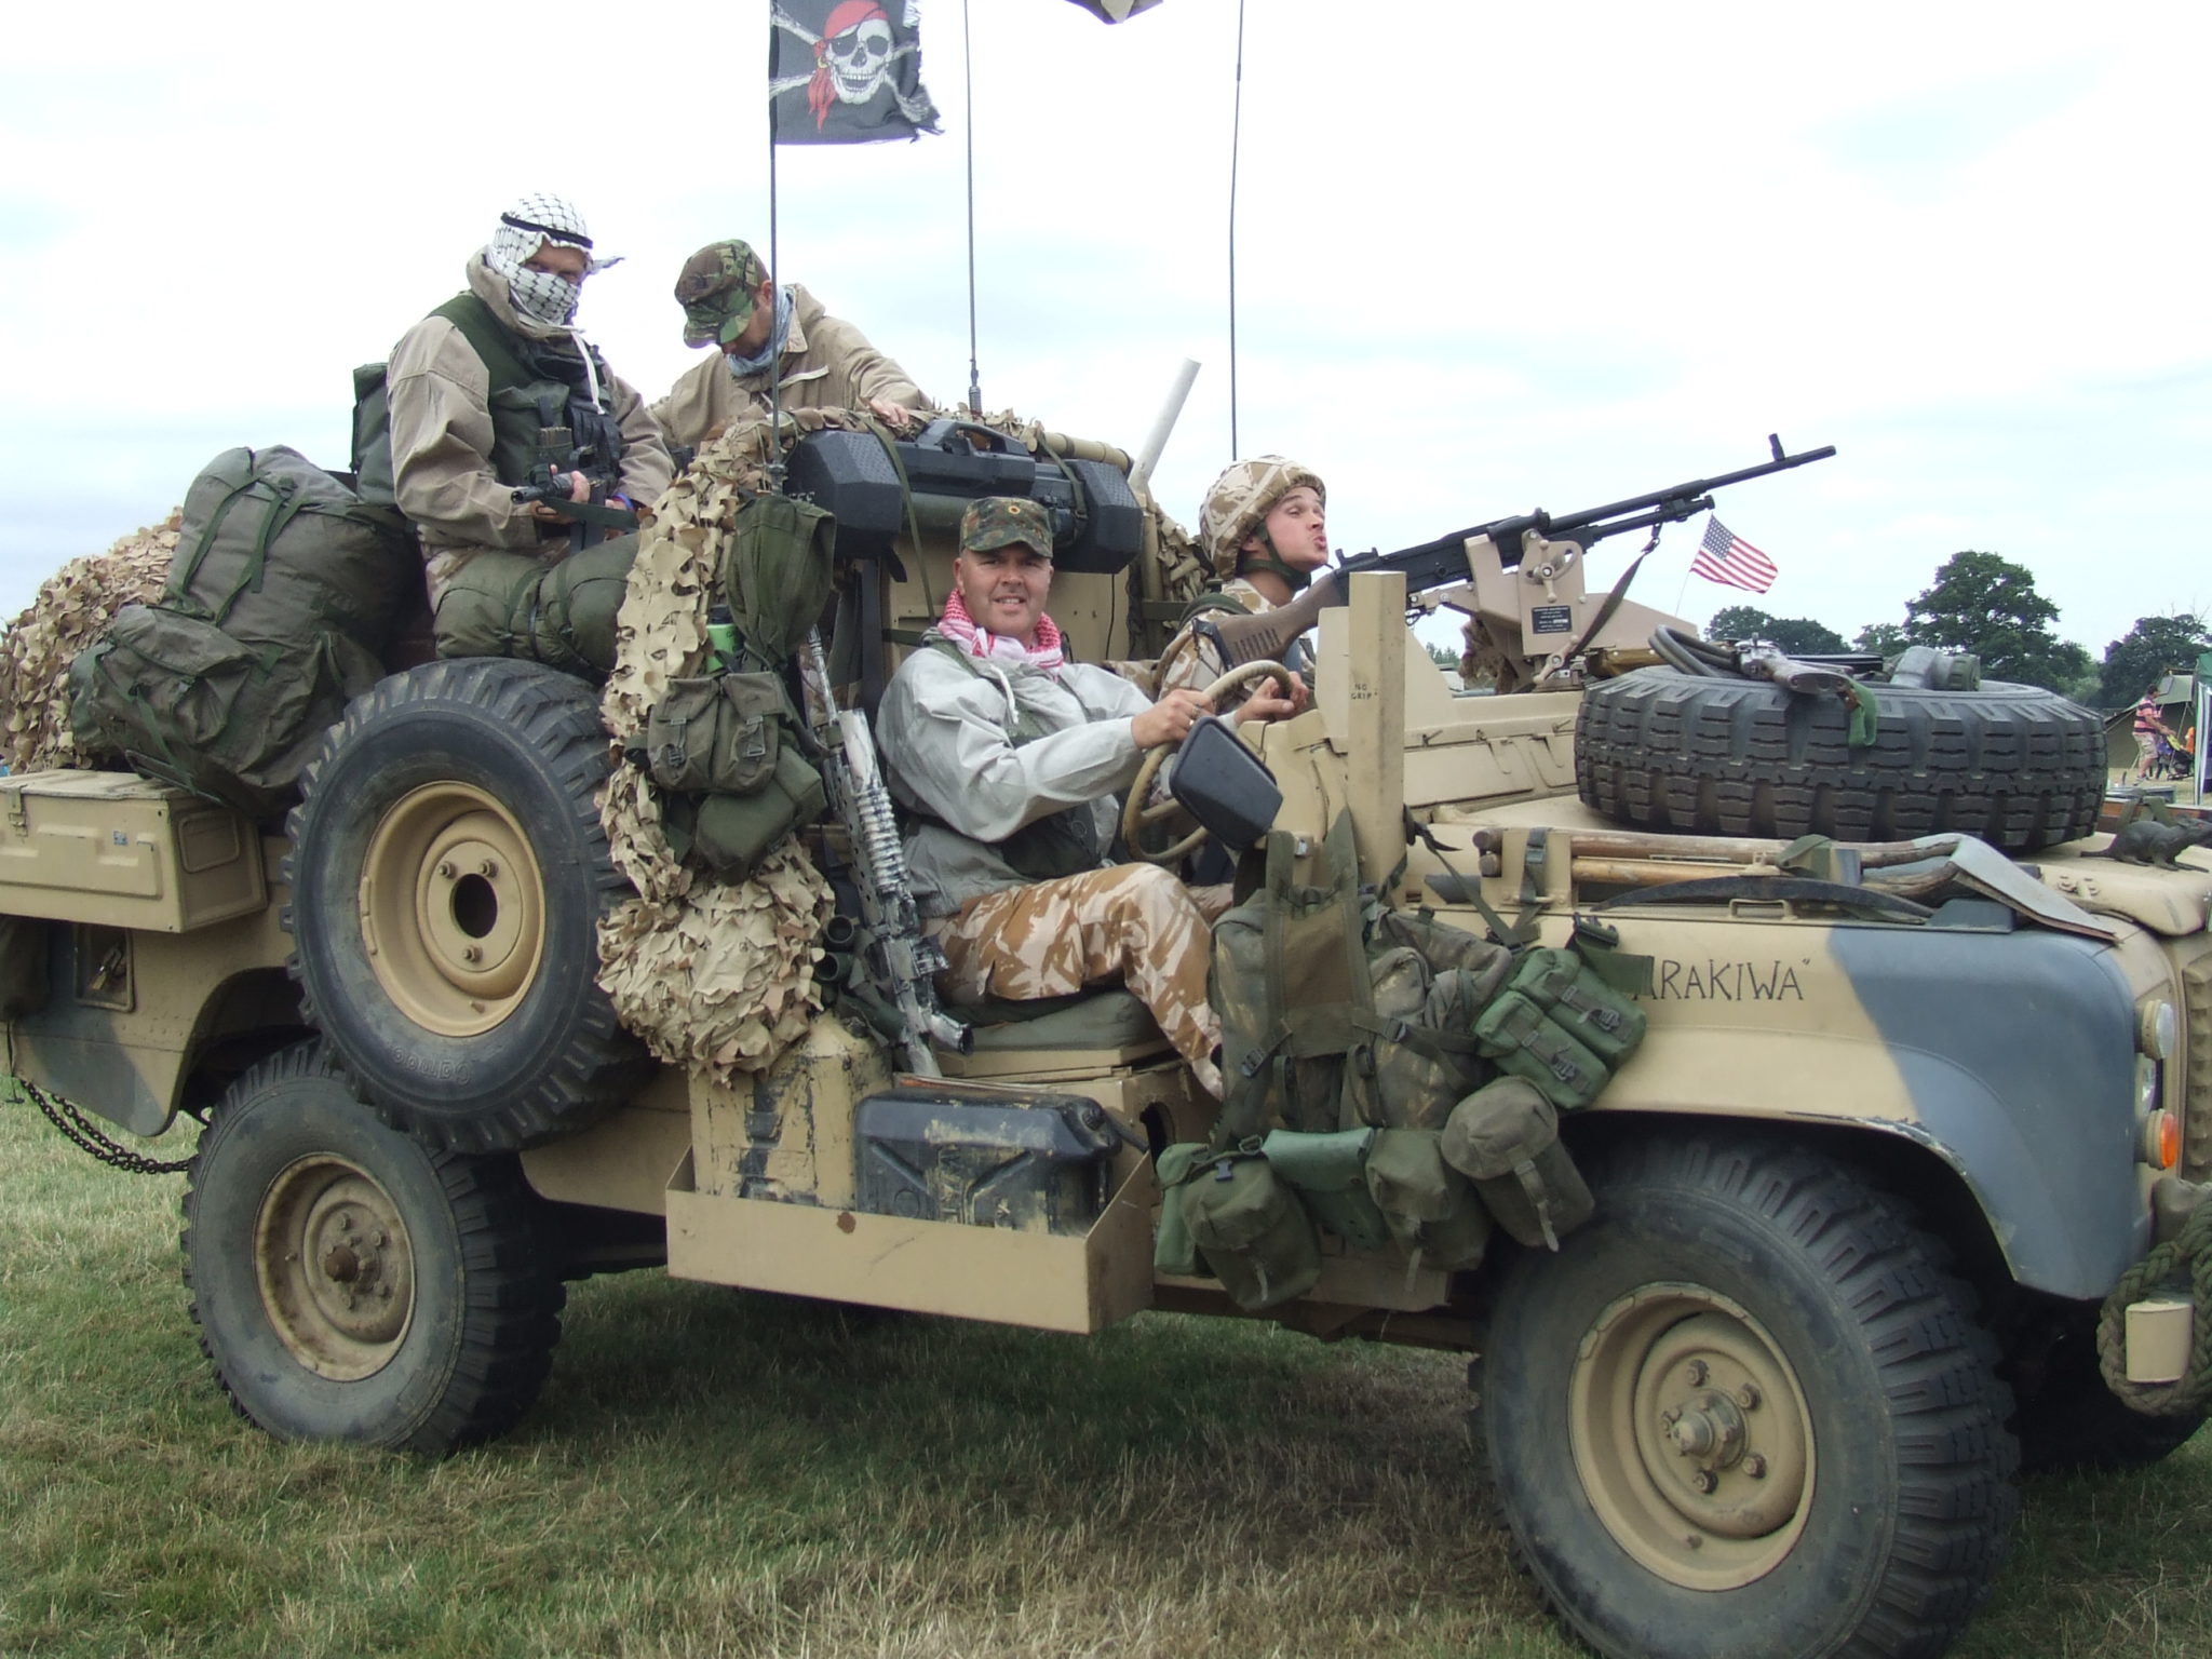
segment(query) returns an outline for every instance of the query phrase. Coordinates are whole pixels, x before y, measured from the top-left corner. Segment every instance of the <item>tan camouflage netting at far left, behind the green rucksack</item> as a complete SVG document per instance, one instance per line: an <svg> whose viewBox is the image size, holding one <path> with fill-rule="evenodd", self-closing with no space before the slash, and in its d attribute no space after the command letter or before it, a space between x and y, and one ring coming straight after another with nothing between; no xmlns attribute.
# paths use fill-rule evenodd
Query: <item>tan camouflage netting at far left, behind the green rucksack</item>
<svg viewBox="0 0 2212 1659"><path fill-rule="evenodd" d="M0 761L11 772L84 765L69 732L69 661L106 633L126 604L155 599L168 582L181 513L122 538L106 553L71 560L31 608L0 633Z"/></svg>

